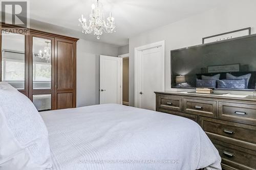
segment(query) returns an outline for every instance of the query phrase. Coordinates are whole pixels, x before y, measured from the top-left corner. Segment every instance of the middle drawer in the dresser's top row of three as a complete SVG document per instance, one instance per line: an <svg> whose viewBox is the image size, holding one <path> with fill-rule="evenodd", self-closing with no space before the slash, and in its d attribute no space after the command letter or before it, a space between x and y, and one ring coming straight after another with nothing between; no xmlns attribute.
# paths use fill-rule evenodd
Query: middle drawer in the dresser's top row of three
<svg viewBox="0 0 256 170"><path fill-rule="evenodd" d="M198 99L184 99L184 111L186 113L197 114L207 117L217 117L217 102L198 100Z"/></svg>

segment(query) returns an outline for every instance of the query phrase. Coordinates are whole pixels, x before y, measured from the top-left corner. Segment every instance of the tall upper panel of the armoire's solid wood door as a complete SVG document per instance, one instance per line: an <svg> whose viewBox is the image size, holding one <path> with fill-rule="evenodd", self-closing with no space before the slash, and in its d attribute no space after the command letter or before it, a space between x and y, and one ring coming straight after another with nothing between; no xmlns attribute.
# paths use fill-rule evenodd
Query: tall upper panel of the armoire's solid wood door
<svg viewBox="0 0 256 170"><path fill-rule="evenodd" d="M73 43L57 41L57 89L73 88Z"/></svg>

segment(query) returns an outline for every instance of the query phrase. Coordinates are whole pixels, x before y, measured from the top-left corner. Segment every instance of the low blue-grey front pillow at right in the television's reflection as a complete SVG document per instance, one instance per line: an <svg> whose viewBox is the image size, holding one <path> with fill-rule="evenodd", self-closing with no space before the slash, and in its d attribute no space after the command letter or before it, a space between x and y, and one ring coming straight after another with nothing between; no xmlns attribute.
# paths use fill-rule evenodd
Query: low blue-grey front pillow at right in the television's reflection
<svg viewBox="0 0 256 170"><path fill-rule="evenodd" d="M218 88L247 88L247 79L217 80Z"/></svg>

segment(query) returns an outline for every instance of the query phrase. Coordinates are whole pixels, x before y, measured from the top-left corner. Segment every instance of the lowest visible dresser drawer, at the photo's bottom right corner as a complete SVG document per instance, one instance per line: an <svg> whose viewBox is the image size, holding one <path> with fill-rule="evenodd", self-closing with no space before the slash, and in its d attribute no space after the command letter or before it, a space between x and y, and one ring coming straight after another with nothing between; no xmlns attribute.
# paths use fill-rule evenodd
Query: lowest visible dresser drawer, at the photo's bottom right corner
<svg viewBox="0 0 256 170"><path fill-rule="evenodd" d="M237 168L239 170L256 168L256 152L236 145L224 143L211 139L215 147L219 151L222 158L222 164Z"/></svg>

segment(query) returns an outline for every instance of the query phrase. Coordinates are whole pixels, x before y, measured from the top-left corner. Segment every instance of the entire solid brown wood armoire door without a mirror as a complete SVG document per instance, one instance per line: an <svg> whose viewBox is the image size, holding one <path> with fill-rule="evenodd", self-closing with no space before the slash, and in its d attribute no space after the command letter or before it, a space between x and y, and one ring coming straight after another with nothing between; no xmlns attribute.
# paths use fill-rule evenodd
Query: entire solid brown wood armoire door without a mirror
<svg viewBox="0 0 256 170"><path fill-rule="evenodd" d="M76 42L55 38L55 106L76 107Z"/></svg>

